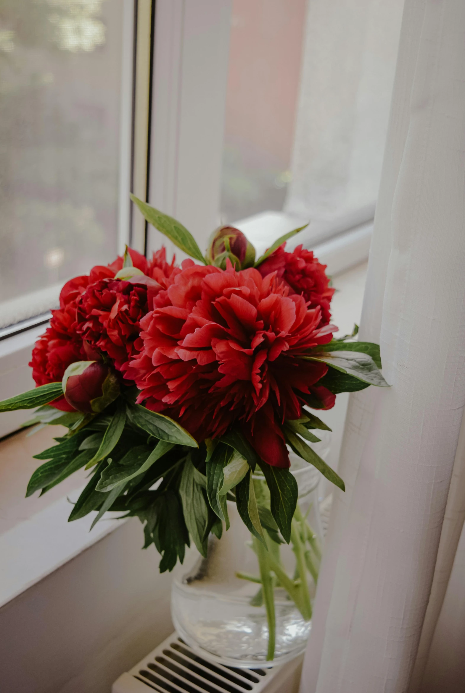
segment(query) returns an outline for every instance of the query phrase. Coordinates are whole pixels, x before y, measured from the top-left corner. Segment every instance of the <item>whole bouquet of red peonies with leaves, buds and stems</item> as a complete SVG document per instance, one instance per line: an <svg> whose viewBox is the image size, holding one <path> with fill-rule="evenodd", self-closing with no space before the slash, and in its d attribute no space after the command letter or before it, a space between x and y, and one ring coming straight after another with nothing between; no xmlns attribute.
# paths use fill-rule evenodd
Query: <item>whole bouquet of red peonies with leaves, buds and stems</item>
<svg viewBox="0 0 465 693"><path fill-rule="evenodd" d="M26 425L67 428L35 455L44 462L26 495L91 470L69 520L92 511L92 526L106 511L137 516L144 547L153 543L162 556L161 572L183 563L192 542L201 563L184 584L205 579L234 515L256 570L233 577L253 587L247 607L264 615L267 647L252 659L271 662L276 604L290 605L294 622L310 622L320 557L289 453L344 490L312 448L313 431L328 426L311 410L330 409L339 392L386 385L379 348L353 341L355 332L333 337L326 267L302 246L285 251L301 229L255 259L241 231L221 227L203 256L183 225L133 201L193 259L178 266L164 248L150 261L126 248L67 281L33 350L37 387L0 411L37 407ZM289 544L294 574L280 553Z"/></svg>

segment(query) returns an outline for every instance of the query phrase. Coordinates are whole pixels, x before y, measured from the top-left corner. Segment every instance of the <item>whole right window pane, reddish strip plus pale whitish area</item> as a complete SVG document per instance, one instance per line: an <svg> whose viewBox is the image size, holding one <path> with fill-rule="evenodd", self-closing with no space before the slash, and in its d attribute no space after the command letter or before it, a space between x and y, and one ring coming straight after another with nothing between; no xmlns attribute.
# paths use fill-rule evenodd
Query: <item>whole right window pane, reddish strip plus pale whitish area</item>
<svg viewBox="0 0 465 693"><path fill-rule="evenodd" d="M233 0L221 214L373 206L403 0Z"/></svg>

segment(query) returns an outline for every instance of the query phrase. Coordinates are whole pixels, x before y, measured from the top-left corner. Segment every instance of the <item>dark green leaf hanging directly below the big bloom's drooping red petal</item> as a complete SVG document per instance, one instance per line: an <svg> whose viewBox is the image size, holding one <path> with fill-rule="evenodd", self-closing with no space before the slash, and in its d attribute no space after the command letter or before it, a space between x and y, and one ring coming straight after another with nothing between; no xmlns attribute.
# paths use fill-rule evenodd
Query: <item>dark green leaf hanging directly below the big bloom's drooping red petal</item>
<svg viewBox="0 0 465 693"><path fill-rule="evenodd" d="M270 491L271 514L287 544L291 540L291 521L297 505L297 482L289 469L272 467L260 460L260 468Z"/></svg>

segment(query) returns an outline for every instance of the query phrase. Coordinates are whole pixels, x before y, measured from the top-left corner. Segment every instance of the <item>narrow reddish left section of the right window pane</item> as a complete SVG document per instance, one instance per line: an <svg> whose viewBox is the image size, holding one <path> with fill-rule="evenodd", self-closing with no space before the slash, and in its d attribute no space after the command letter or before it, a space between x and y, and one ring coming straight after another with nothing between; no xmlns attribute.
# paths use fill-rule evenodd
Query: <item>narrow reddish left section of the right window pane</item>
<svg viewBox="0 0 465 693"><path fill-rule="evenodd" d="M223 223L285 202L306 6L306 0L233 0Z"/></svg>

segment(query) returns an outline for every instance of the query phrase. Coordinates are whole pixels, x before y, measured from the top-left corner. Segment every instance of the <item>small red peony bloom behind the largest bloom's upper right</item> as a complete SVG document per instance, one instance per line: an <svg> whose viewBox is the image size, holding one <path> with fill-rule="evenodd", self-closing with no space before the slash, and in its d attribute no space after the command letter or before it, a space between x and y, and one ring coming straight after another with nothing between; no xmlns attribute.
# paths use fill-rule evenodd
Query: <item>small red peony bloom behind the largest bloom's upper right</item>
<svg viewBox="0 0 465 693"><path fill-rule="evenodd" d="M321 308L321 324L330 322L330 302L335 290L330 288L326 265L321 265L311 250L298 245L294 252L285 252L285 243L262 262L258 271L262 277L276 272L291 293L302 295L309 308Z"/></svg>

